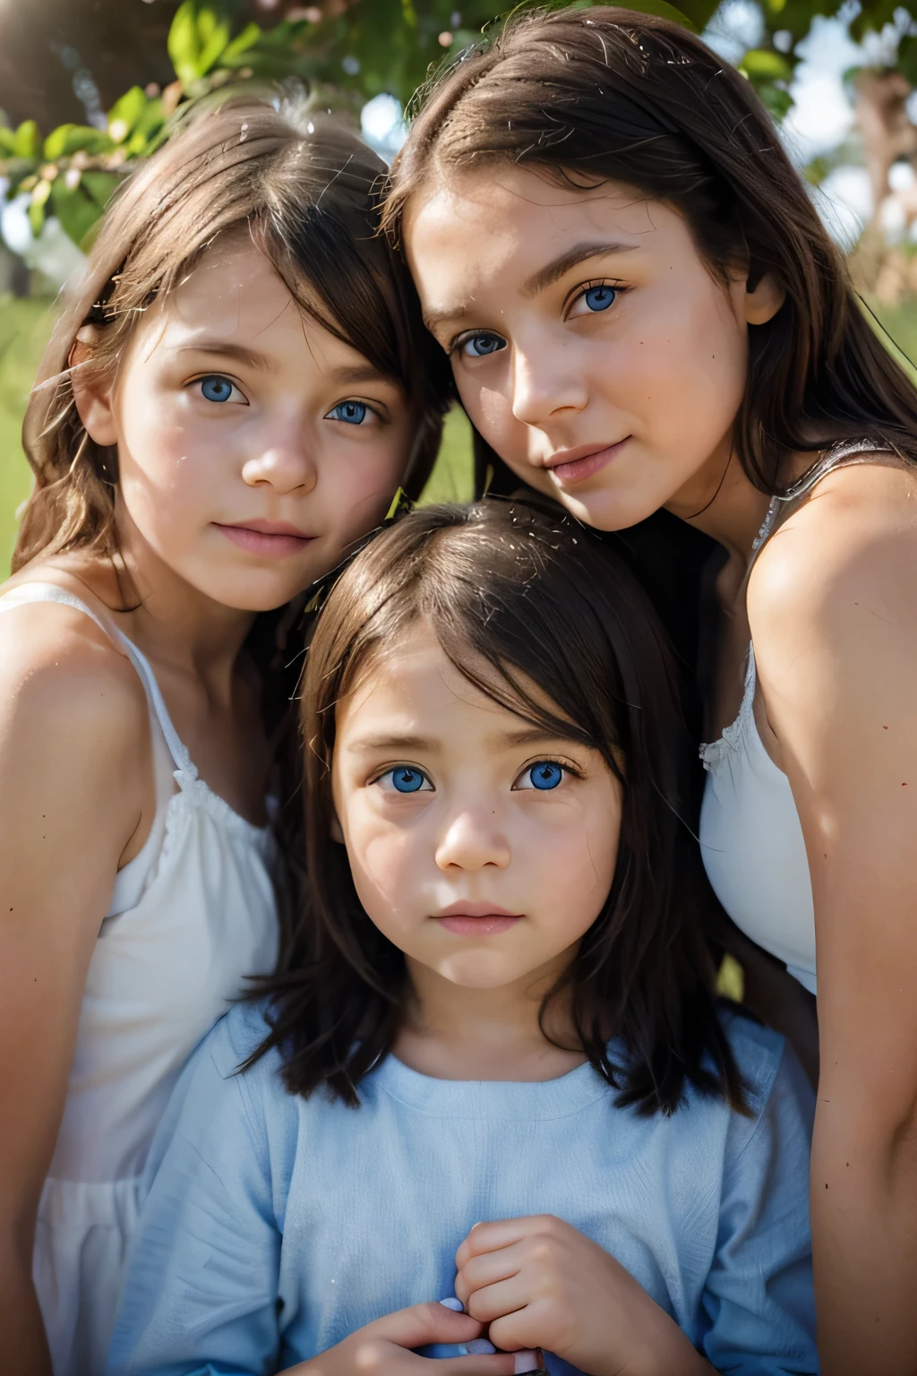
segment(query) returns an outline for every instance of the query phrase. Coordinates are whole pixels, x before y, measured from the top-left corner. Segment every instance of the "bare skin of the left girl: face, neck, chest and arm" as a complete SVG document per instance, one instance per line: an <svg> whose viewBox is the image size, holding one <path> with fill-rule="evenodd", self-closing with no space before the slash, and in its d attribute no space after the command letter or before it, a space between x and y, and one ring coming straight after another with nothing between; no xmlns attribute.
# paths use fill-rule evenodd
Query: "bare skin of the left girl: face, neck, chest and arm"
<svg viewBox="0 0 917 1376"><path fill-rule="evenodd" d="M143 314L117 376L78 367L96 343L80 332L74 395L92 439L117 449L121 578L71 552L12 582L114 610L201 779L264 826L272 747L246 637L385 515L410 461L408 399L297 307L247 235L212 245ZM76 610L0 618L0 1097L16 1105L0 1145L0 1335L15 1369L49 1376L36 1211L115 874L157 813L143 685Z"/></svg>

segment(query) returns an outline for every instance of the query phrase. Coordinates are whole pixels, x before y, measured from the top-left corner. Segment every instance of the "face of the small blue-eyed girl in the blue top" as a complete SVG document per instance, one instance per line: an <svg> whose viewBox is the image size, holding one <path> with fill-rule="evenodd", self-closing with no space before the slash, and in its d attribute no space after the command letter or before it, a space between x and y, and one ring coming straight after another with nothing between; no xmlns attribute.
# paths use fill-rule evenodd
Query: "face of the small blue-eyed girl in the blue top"
<svg viewBox="0 0 917 1376"><path fill-rule="evenodd" d="M621 790L598 751L498 706L423 623L371 662L335 725L356 892L408 969L496 988L566 965L617 856Z"/></svg>

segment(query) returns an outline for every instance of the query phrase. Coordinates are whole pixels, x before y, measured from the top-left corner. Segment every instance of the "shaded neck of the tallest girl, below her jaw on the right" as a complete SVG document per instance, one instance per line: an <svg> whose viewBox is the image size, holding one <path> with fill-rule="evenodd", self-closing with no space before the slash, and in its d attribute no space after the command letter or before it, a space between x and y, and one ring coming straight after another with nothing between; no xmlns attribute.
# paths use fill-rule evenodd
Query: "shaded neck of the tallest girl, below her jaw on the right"
<svg viewBox="0 0 917 1376"><path fill-rule="evenodd" d="M747 476L729 438L675 493L667 510L711 535L747 567L769 504L767 494L759 493Z"/></svg>

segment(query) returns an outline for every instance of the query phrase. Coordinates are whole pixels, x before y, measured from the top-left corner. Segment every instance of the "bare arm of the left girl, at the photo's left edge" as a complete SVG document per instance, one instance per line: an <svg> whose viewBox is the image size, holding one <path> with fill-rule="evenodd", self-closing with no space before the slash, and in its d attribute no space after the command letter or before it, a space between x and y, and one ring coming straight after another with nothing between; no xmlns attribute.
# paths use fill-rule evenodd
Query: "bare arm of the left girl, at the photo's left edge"
<svg viewBox="0 0 917 1376"><path fill-rule="evenodd" d="M89 958L143 813L146 722L133 670L85 616L0 618L0 1350L19 1376L51 1372L36 1211Z"/></svg>

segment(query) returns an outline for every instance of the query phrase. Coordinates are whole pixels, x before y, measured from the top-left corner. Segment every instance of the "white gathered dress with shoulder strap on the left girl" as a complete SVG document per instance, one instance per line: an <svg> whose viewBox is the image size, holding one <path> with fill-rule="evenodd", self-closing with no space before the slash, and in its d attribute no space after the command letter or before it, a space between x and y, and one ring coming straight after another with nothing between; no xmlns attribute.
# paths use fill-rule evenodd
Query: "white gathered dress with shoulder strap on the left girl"
<svg viewBox="0 0 917 1376"><path fill-rule="evenodd" d="M136 645L54 583L10 589L0 612L27 603L84 612L128 655L150 706L157 780L153 830L115 878L89 963L36 1230L34 1282L54 1373L96 1376L136 1221L137 1176L172 1086L245 977L274 967L275 856L269 830L198 777Z"/></svg>

